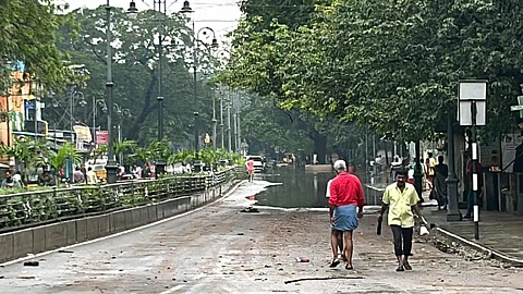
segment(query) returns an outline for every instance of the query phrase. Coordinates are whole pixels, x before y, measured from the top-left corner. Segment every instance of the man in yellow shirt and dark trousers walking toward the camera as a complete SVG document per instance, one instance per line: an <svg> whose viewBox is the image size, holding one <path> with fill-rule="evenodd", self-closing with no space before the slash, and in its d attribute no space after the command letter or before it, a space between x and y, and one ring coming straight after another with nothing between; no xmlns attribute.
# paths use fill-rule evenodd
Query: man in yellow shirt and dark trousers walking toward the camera
<svg viewBox="0 0 523 294"><path fill-rule="evenodd" d="M388 222L392 230L394 242L394 254L398 258L397 271L412 270L409 264L409 255L412 249L412 235L414 228L414 216L412 210L416 211L419 219L423 220L417 201L414 185L406 183L406 171L401 169L397 172L396 183L387 186L384 193L384 205L379 211L379 221L382 220L385 211L389 210Z"/></svg>

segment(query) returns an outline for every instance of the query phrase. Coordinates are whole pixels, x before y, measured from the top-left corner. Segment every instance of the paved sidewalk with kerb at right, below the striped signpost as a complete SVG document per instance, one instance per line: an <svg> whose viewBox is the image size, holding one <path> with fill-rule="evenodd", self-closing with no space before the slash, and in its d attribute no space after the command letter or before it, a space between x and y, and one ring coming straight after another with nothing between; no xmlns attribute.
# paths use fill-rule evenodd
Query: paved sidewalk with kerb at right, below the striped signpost
<svg viewBox="0 0 523 294"><path fill-rule="evenodd" d="M447 237L485 252L492 258L523 266L523 217L501 211L481 211L479 240L476 241L472 220L448 222L447 211L438 211L436 207L424 208L423 213Z"/></svg>

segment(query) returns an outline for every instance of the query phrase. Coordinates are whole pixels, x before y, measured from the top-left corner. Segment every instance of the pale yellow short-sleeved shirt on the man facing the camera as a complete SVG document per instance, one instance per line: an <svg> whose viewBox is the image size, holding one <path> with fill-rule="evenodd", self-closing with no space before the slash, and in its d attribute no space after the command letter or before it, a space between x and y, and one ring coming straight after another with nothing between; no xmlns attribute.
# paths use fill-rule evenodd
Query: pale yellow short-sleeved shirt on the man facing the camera
<svg viewBox="0 0 523 294"><path fill-rule="evenodd" d="M389 225L414 226L412 206L419 201L414 185L405 183L403 192L400 191L397 183L388 185L382 201L389 206Z"/></svg>

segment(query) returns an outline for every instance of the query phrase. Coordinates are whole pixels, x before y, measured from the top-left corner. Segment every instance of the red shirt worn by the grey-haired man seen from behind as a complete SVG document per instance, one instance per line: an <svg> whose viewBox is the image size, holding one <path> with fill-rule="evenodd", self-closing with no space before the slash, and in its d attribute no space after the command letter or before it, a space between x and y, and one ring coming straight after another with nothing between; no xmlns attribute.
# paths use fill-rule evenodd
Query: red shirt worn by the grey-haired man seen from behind
<svg viewBox="0 0 523 294"><path fill-rule="evenodd" d="M330 184L329 204L333 206L365 206L365 196L360 179L354 174L341 172Z"/></svg>

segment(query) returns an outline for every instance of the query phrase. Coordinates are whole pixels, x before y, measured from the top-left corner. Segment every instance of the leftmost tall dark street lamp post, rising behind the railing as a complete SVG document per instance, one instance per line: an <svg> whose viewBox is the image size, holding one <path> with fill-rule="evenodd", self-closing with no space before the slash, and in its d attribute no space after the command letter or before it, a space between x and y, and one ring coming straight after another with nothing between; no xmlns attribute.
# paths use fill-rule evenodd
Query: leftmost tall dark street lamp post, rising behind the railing
<svg viewBox="0 0 523 294"><path fill-rule="evenodd" d="M107 82L106 82L106 91L107 99L106 103L112 106L112 90L114 83L112 83L112 48L111 48L111 5L109 0L107 0L106 5L106 37L107 37ZM114 142L112 133L112 107L107 109L107 132L109 133L109 138L107 143L107 183L115 183L118 181L118 166L114 158Z"/></svg>

